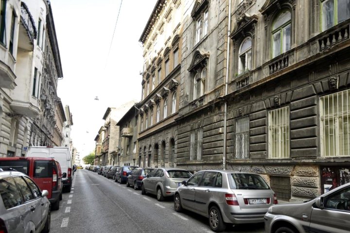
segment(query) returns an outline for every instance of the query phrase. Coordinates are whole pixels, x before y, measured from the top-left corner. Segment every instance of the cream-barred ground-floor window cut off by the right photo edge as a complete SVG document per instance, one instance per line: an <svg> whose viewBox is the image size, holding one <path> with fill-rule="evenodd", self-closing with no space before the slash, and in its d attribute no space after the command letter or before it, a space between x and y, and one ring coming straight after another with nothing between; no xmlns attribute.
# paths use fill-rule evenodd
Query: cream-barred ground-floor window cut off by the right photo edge
<svg viewBox="0 0 350 233"><path fill-rule="evenodd" d="M321 156L350 154L350 89L320 98Z"/></svg>

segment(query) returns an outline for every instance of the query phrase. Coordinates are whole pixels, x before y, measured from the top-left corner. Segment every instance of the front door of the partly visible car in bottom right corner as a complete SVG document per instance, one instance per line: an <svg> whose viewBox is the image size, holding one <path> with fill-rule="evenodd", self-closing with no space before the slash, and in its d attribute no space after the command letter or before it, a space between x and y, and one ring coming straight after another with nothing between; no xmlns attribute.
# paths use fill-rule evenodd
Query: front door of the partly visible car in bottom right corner
<svg viewBox="0 0 350 233"><path fill-rule="evenodd" d="M314 208L310 232L350 232L350 187L324 197L324 209Z"/></svg>

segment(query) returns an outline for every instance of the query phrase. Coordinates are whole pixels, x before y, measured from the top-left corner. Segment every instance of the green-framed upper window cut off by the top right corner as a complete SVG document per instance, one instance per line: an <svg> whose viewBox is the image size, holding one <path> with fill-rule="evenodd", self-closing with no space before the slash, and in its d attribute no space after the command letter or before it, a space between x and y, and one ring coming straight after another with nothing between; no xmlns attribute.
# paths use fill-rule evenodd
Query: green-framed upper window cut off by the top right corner
<svg viewBox="0 0 350 233"><path fill-rule="evenodd" d="M349 0L323 0L321 1L322 31L350 18Z"/></svg>

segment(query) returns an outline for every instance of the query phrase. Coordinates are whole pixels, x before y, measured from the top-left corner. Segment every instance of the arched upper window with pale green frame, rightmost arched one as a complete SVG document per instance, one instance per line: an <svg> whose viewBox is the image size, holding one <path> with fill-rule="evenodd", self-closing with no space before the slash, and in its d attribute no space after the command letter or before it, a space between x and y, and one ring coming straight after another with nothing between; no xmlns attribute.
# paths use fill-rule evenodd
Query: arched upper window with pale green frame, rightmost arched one
<svg viewBox="0 0 350 233"><path fill-rule="evenodd" d="M283 11L273 22L272 57L290 49L291 46L291 13Z"/></svg>

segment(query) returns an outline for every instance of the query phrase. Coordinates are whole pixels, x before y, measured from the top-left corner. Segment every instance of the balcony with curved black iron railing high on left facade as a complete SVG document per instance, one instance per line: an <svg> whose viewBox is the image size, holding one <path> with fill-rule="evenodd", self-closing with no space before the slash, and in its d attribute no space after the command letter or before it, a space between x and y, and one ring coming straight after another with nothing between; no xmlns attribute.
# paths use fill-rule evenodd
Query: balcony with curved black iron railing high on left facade
<svg viewBox="0 0 350 233"><path fill-rule="evenodd" d="M34 40L36 39L36 28L34 19L29 12L27 5L21 2L21 15L18 33L18 48L33 51Z"/></svg>

